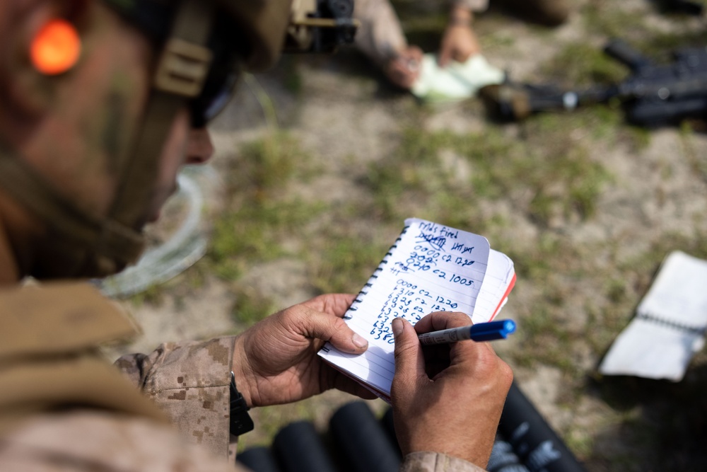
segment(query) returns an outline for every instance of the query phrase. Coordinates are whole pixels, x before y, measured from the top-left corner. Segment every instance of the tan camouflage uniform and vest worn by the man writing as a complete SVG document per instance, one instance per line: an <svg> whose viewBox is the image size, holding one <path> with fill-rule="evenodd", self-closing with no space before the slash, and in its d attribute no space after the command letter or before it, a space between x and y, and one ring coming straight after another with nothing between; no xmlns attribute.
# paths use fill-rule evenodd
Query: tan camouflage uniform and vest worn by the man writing
<svg viewBox="0 0 707 472"><path fill-rule="evenodd" d="M96 346L134 331L86 284L0 291L1 471L243 470L234 469L228 433L233 338L166 343L150 355L122 357L116 365L131 384ZM400 471L482 469L416 452Z"/></svg>

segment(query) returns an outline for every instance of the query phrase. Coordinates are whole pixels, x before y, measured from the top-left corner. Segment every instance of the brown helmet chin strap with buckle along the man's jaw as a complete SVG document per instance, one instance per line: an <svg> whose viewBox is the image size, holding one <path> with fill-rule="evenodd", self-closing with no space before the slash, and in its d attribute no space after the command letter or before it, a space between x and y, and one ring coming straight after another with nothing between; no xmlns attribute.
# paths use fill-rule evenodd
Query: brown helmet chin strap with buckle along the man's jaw
<svg viewBox="0 0 707 472"><path fill-rule="evenodd" d="M0 187L37 216L46 228L29 275L105 277L133 263L144 249L142 224L153 195L160 155L175 115L201 93L211 66L205 47L211 2L184 0L165 43L134 150L119 168L118 188L107 218L64 197L13 151L0 146Z"/></svg>

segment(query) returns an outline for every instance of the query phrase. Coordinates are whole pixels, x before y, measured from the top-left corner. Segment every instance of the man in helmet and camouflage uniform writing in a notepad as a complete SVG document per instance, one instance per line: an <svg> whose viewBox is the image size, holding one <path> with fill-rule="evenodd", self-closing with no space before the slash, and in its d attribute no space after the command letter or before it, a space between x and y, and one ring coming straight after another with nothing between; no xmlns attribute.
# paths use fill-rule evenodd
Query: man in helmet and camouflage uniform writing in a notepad
<svg viewBox="0 0 707 472"><path fill-rule="evenodd" d="M366 350L341 319L353 296L323 295L237 337L165 343L114 366L97 346L134 326L83 282L139 256L177 171L210 158L205 125L241 71L269 67L284 45L351 38L336 5L0 2L1 471L233 470L249 408L328 388L371 398L316 355L325 341ZM320 8L331 18L312 19ZM313 40L312 28L327 30ZM476 471L488 460L510 369L467 343L430 379L416 336L467 321L393 324L403 470Z"/></svg>

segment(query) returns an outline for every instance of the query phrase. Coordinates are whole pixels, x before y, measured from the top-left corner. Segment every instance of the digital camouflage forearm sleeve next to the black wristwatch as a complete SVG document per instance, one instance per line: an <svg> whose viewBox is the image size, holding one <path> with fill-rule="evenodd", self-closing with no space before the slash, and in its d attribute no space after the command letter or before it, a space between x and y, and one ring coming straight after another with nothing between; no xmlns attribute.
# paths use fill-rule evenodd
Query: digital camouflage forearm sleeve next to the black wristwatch
<svg viewBox="0 0 707 472"><path fill-rule="evenodd" d="M115 365L169 416L189 441L227 456L231 443L229 386L234 339L165 343L148 355L120 357Z"/></svg>

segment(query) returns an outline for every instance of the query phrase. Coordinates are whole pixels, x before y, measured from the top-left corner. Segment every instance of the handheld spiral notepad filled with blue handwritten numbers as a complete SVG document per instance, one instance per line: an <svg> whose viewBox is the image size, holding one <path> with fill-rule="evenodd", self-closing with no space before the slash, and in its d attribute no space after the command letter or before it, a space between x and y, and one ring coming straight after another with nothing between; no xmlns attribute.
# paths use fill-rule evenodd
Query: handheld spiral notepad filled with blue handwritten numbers
<svg viewBox="0 0 707 472"><path fill-rule="evenodd" d="M416 323L433 311L462 311L490 321L515 283L513 261L478 234L407 219L402 233L346 312L346 323L368 340L363 355L327 344L320 356L384 400L395 372L393 318Z"/></svg>

